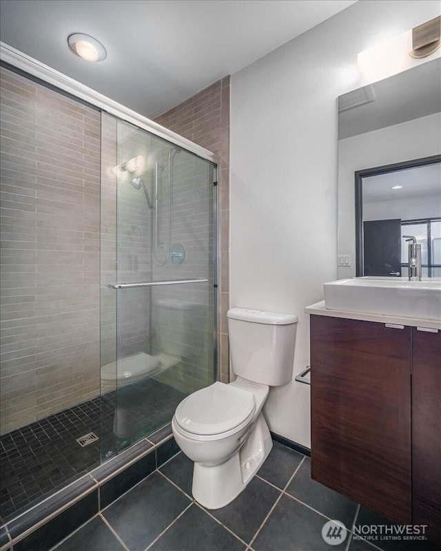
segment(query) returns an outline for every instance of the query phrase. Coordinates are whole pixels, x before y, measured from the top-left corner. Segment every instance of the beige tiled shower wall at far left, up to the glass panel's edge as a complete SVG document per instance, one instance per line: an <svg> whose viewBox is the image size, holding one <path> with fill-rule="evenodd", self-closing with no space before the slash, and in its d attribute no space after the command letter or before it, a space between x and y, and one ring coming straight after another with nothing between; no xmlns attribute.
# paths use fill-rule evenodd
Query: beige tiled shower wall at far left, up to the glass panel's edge
<svg viewBox="0 0 441 551"><path fill-rule="evenodd" d="M99 394L100 114L1 68L1 432Z"/></svg>

